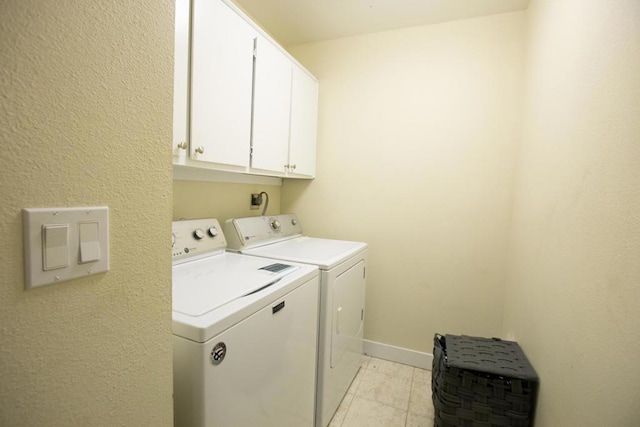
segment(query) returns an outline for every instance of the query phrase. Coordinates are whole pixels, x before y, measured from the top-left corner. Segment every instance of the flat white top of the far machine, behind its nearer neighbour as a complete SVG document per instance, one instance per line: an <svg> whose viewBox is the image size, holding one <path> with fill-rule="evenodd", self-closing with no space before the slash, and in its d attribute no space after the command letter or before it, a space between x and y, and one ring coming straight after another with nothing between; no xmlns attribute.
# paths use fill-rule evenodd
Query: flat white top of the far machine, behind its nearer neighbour
<svg viewBox="0 0 640 427"><path fill-rule="evenodd" d="M313 264L320 267L321 270L329 270L366 248L367 244L363 242L302 236L253 249L245 249L242 253Z"/></svg>

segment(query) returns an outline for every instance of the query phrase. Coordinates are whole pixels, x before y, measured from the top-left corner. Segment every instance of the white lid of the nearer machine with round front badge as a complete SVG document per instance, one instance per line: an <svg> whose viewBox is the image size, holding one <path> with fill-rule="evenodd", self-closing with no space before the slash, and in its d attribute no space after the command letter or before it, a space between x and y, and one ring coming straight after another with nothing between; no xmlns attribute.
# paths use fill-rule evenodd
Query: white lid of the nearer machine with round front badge
<svg viewBox="0 0 640 427"><path fill-rule="evenodd" d="M279 282L300 267L222 253L173 267L173 311L202 316Z"/></svg>

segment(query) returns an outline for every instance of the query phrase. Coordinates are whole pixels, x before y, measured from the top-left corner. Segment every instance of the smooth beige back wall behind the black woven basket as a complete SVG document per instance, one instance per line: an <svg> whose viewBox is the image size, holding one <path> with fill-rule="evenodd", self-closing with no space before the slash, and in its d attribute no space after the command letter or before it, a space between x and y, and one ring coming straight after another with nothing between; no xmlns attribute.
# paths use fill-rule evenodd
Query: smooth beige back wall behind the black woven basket
<svg viewBox="0 0 640 427"><path fill-rule="evenodd" d="M369 243L365 338L499 335L524 12L291 48L320 81L307 234Z"/></svg>

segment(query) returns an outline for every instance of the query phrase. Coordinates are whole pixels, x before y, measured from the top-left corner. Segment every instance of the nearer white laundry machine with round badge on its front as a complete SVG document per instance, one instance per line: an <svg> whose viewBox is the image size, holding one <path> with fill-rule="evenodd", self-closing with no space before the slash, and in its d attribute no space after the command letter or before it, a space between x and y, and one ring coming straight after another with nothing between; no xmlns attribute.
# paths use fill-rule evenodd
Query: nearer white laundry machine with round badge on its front
<svg viewBox="0 0 640 427"><path fill-rule="evenodd" d="M225 248L215 219L173 223L174 424L313 426L318 269Z"/></svg>

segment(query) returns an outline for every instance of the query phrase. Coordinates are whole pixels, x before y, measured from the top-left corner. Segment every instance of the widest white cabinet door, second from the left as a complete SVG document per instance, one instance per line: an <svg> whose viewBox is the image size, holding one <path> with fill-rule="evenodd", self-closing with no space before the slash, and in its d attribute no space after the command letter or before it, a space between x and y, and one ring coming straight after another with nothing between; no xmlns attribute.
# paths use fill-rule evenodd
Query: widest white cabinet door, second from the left
<svg viewBox="0 0 640 427"><path fill-rule="evenodd" d="M255 31L220 0L192 16L191 158L247 167Z"/></svg>

